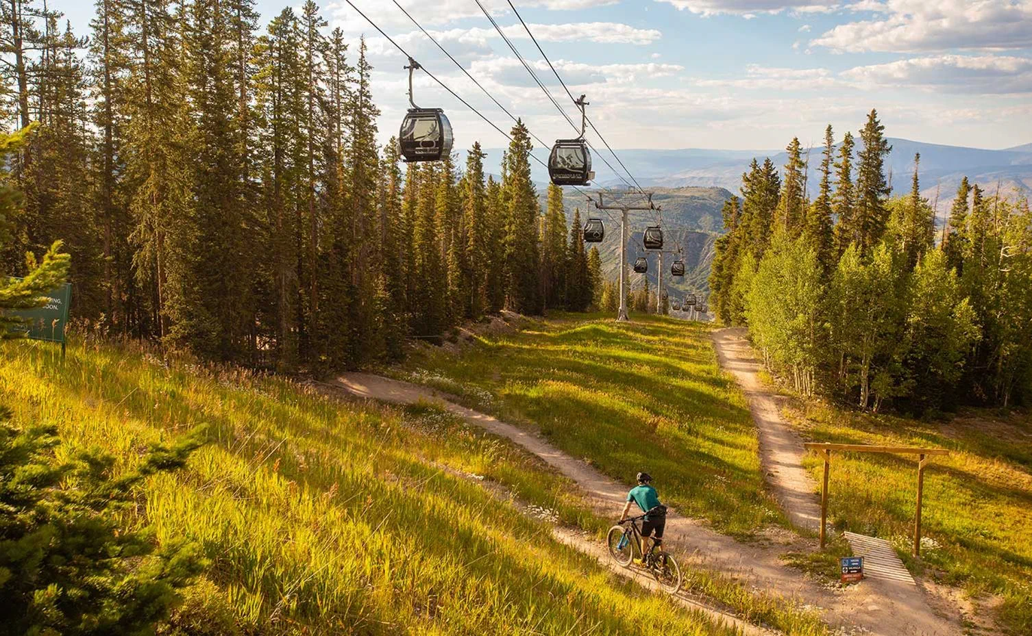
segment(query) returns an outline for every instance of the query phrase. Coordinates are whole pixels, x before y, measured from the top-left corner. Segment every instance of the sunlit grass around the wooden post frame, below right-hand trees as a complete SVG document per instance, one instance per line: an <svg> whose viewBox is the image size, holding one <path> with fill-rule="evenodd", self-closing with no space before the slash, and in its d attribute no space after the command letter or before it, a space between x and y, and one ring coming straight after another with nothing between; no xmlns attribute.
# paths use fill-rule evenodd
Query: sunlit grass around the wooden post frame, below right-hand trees
<svg viewBox="0 0 1032 636"><path fill-rule="evenodd" d="M912 545L917 466L910 456L837 454L829 514L836 526L892 540L909 567L972 595L1002 597L997 617L1032 634L1032 422L962 416L948 423L797 404L792 419L816 441L948 448L925 471L922 560ZM809 456L814 476L824 463ZM988 610L983 610L988 611Z"/></svg>

